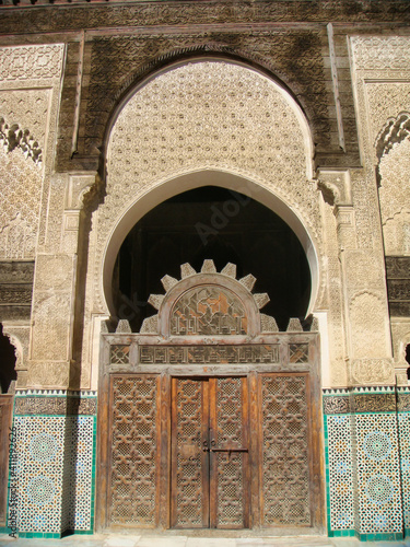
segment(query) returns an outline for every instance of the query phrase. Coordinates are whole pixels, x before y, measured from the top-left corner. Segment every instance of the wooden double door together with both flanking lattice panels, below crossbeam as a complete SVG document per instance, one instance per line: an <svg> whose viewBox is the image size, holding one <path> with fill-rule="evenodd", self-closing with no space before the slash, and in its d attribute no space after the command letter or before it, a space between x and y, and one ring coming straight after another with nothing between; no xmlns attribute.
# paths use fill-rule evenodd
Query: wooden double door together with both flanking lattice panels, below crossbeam
<svg viewBox="0 0 410 547"><path fill-rule="evenodd" d="M106 526L320 526L308 372L113 374L105 408Z"/></svg>

